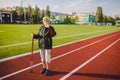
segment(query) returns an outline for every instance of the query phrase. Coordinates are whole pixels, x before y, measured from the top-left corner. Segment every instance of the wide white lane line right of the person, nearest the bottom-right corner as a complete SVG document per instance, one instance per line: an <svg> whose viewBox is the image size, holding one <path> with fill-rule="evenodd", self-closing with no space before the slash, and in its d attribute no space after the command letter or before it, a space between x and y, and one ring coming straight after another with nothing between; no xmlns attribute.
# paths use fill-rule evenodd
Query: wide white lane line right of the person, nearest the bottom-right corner
<svg viewBox="0 0 120 80"><path fill-rule="evenodd" d="M108 50L110 47L112 47L114 44L116 44L118 41L120 41L120 38L117 39L116 41L114 41L112 44L110 44L109 46L107 46L105 49L103 49L102 51L100 51L99 53L97 53L96 55L94 55L92 58L90 58L89 60L87 60L86 62L84 62L83 64L79 65L77 68L73 69L71 72L69 72L68 74L66 74L65 76L63 76L62 78L60 78L59 80L66 80L68 77L70 77L72 74L74 74L75 72L77 72L78 70L80 70L81 68L83 68L84 66L86 66L87 64L89 64L92 60L94 60L95 58L97 58L100 54L102 54L103 52L105 52L106 50Z"/></svg>

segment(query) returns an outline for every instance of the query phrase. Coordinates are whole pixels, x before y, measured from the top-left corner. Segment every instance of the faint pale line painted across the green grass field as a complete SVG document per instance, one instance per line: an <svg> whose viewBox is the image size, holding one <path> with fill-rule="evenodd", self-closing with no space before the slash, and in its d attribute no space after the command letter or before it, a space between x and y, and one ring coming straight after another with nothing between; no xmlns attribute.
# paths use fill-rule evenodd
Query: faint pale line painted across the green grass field
<svg viewBox="0 0 120 80"><path fill-rule="evenodd" d="M84 34L93 34L93 33L104 32L104 31L108 31L108 30L102 30L102 31L96 31L96 32L88 32L88 33L81 33L81 34L74 34L74 35L63 36L63 37L58 37L58 38L54 38L54 39L62 39L62 38L68 38L68 37L79 36L79 35L84 35ZM30 44L30 43L31 42L5 45L5 46L0 46L0 48L6 48L6 47L12 47L12 46L18 46L18 45L24 45L24 44Z"/></svg>

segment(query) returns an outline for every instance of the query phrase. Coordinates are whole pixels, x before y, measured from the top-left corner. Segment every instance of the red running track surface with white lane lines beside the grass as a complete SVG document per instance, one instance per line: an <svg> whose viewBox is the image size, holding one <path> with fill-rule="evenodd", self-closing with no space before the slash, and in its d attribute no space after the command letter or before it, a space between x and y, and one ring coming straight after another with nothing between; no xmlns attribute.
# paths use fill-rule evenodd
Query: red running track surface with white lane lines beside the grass
<svg viewBox="0 0 120 80"><path fill-rule="evenodd" d="M51 76L39 73L42 65L34 67L33 73L29 73L28 69L11 75L30 66L30 55L28 55L0 63L0 77L2 80L59 80L118 39L120 39L120 31L54 48ZM119 47L120 41L66 79L120 80ZM40 55L34 54L34 64L37 63L40 63Z"/></svg>

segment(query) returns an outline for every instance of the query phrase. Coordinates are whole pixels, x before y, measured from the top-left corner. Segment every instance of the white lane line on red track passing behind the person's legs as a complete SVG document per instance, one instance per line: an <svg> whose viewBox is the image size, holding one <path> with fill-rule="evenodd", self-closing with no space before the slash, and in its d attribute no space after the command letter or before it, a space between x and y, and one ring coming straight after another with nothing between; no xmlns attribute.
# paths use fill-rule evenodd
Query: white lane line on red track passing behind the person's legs
<svg viewBox="0 0 120 80"><path fill-rule="evenodd" d="M116 36L116 35L117 35L117 34L114 34L114 35L112 35L112 36L108 36L108 37L106 37L106 38L97 40L97 41L95 41L95 42L93 42L93 43L87 44L87 45L85 45L85 46L83 46L83 47L80 47L80 48L77 48L77 49L75 49L75 50L71 50L71 51L69 51L69 52L63 53L62 55L59 55L59 56L56 56L56 57L52 58L51 60L55 60L55 59L61 58L61 57L65 56L65 55L68 55L68 54L70 54L70 53L72 53L72 52L75 52L75 51L78 51L78 50L80 50L80 49L86 48L86 47L88 47L88 46L91 46L91 45L93 45L93 44L96 44L96 43L98 43L98 42L100 42L100 41L103 41L103 40L105 40L105 39L111 38L111 37ZM35 65L32 66L32 68L33 68L33 67L37 67L37 66L40 65L40 64L41 64L41 63L35 64ZM13 72L13 73L11 73L11 74L5 75L5 76L1 77L1 80L2 80L2 79L5 79L5 78L8 78L8 77L10 77L10 76L16 75L16 74L18 74L18 73L21 73L21 72L23 72L23 71L29 70L30 68L31 68L31 67L27 67L27 68L21 69L21 70L19 70L19 71Z"/></svg>

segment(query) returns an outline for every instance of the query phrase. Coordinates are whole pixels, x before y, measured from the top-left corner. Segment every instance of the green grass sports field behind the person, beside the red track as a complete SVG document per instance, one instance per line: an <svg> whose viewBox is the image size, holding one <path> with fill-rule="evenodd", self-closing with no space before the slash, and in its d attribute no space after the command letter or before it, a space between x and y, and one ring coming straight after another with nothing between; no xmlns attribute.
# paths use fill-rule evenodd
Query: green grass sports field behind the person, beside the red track
<svg viewBox="0 0 120 80"><path fill-rule="evenodd" d="M30 52L31 33L38 33L40 26L40 24L0 24L0 59ZM52 26L57 32L57 36L53 38L54 46L120 30L120 27L115 26ZM35 50L38 50L37 40L35 40Z"/></svg>

